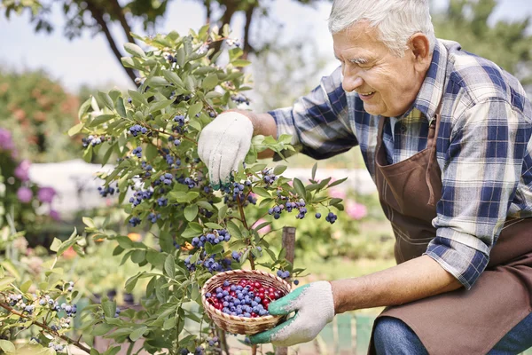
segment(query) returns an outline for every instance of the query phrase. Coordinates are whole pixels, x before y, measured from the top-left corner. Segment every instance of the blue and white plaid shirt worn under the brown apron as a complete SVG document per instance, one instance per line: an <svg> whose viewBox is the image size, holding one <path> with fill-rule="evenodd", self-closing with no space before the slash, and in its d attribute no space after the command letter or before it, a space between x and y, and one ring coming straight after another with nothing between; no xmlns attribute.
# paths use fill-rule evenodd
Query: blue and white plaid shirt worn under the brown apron
<svg viewBox="0 0 532 355"><path fill-rule="evenodd" d="M355 92L343 91L341 79L339 67L293 107L270 114L278 135L293 135L296 150L315 159L360 146L374 180L379 116L366 113ZM469 289L486 268L506 217L532 217L532 110L512 75L458 43L438 40L413 106L385 123L389 163L426 148L427 118L434 117L443 90L436 142L442 199L425 254Z"/></svg>

